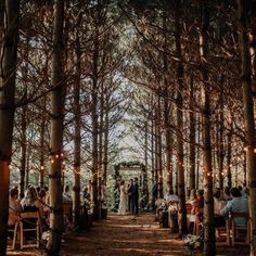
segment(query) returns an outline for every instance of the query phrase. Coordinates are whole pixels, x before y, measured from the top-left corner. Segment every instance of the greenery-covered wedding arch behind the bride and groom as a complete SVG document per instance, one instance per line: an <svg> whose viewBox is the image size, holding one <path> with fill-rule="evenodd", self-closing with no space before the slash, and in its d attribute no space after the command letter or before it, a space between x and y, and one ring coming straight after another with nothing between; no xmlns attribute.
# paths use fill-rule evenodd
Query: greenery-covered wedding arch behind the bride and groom
<svg viewBox="0 0 256 256"><path fill-rule="evenodd" d="M119 182L125 180L126 183L129 182L130 179L138 178L139 188L140 188L140 197L139 197L139 207L140 210L146 212L149 210L149 187L148 187L148 172L145 165L139 161L133 162L120 162L114 165L114 175L113 178L115 180L114 187L114 207L113 210L118 209L119 204Z"/></svg>

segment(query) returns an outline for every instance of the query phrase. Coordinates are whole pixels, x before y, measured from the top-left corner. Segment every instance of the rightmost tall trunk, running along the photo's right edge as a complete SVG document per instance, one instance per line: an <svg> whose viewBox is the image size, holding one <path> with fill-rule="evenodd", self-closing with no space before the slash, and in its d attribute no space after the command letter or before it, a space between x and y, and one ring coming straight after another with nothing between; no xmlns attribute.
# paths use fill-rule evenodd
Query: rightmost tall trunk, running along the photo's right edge
<svg viewBox="0 0 256 256"><path fill-rule="evenodd" d="M241 55L242 86L243 86L243 104L245 119L246 137L246 174L249 187L249 217L252 221L251 255L256 255L256 154L255 149L255 119L254 119L254 101L252 91L252 68L251 56L248 51L247 38L247 20L251 11L247 1L238 0L239 14L239 48ZM253 1L252 17L256 16L255 1ZM253 18L252 18L253 21ZM252 26L252 33L255 33L255 24ZM255 36L255 35L254 35Z"/></svg>

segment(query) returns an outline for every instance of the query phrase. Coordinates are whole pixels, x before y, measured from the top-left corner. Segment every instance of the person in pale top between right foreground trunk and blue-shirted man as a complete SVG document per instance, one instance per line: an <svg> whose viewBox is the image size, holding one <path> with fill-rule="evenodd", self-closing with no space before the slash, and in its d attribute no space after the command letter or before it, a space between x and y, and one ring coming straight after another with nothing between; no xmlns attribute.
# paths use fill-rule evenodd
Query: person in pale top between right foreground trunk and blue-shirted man
<svg viewBox="0 0 256 256"><path fill-rule="evenodd" d="M222 190L216 190L214 193L214 222L215 227L225 227L226 226L226 220L223 216L220 215L220 210L225 207L226 205L226 200L223 196L223 191Z"/></svg>

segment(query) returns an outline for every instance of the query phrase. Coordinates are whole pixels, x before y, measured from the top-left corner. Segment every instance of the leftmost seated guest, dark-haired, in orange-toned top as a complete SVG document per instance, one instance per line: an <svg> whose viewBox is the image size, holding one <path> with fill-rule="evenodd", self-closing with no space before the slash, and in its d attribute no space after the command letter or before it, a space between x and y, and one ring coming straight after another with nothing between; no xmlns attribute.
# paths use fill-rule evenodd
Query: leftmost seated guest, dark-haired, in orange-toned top
<svg viewBox="0 0 256 256"><path fill-rule="evenodd" d="M11 189L9 200L9 218L8 226L13 227L16 222L17 216L22 213L22 205L17 200L18 191Z"/></svg>

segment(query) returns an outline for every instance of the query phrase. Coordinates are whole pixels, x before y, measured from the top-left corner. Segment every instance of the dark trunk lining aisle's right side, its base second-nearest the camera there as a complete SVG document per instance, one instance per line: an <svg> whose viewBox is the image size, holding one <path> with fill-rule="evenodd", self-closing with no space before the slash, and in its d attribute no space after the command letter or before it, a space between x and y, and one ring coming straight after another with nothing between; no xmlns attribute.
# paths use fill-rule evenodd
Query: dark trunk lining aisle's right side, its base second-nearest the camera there
<svg viewBox="0 0 256 256"><path fill-rule="evenodd" d="M187 208L185 208L185 191L184 191L184 153L183 153L183 65L181 62L181 27L180 27L180 10L181 1L177 0L175 2L175 44L176 44L176 57L178 59L176 63L176 76L177 76L177 127L179 127L179 135L177 137L177 155L178 155L178 194L180 197L179 201L179 210L180 210L180 225L179 233L188 233L188 223L187 223Z"/></svg>

